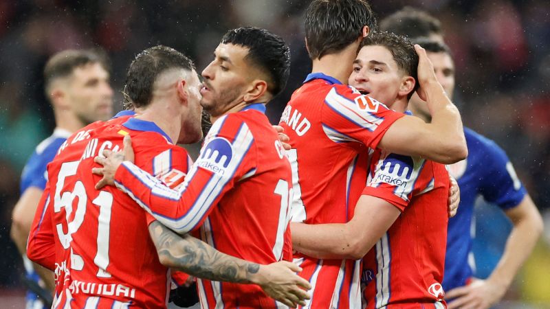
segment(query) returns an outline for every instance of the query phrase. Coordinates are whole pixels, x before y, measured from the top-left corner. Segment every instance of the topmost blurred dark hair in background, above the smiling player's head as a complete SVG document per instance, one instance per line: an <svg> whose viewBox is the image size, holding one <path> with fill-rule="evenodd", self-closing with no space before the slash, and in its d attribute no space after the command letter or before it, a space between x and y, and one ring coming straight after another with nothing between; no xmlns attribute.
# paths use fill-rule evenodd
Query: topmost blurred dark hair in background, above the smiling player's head
<svg viewBox="0 0 550 309"><path fill-rule="evenodd" d="M423 10L406 6L380 22L380 30L408 38L441 34L441 22Z"/></svg>

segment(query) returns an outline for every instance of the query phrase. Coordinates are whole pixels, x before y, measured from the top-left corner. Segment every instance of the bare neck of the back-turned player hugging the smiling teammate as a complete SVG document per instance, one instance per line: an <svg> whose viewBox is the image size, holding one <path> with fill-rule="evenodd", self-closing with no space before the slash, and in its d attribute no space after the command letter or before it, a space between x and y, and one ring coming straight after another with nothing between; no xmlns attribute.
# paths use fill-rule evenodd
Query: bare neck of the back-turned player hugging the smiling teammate
<svg viewBox="0 0 550 309"><path fill-rule="evenodd" d="M353 47L353 48L351 48ZM313 73L323 73L347 84L351 74L351 64L357 56L357 49L350 45L336 54L328 54L313 61Z"/></svg>

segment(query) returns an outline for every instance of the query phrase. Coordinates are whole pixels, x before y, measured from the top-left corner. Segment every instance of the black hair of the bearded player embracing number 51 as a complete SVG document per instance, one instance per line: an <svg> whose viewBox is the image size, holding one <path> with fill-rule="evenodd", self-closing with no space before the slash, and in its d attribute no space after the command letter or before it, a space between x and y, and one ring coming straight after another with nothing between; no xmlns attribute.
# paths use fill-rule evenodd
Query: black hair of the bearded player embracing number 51
<svg viewBox="0 0 550 309"><path fill-rule="evenodd" d="M285 89L290 73L290 49L283 38L258 27L240 27L225 33L221 43L248 48L245 60L267 75L267 91L273 96Z"/></svg>

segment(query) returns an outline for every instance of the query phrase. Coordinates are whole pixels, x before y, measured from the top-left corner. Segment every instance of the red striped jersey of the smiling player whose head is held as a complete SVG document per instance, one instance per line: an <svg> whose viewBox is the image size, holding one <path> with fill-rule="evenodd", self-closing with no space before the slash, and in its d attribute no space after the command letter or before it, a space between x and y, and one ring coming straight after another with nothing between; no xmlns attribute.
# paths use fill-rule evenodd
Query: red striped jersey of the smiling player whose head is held
<svg viewBox="0 0 550 309"><path fill-rule="evenodd" d="M401 211L363 258L364 308L444 308L449 194L445 165L376 150L363 194Z"/></svg>

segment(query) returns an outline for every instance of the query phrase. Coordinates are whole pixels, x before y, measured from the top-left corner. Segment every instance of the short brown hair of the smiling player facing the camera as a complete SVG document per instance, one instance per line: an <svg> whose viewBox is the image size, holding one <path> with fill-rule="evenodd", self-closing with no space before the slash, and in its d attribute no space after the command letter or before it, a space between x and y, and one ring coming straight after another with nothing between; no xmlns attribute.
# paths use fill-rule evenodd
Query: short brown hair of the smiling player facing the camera
<svg viewBox="0 0 550 309"><path fill-rule="evenodd" d="M408 76L415 78L415 88L410 91L407 98L410 99L418 87L417 69L418 54L415 46L405 36L399 36L391 32L373 32L362 41L360 48L364 46L380 45L386 47L392 54L397 67L403 70Z"/></svg>

